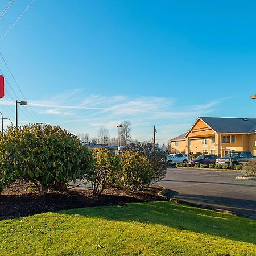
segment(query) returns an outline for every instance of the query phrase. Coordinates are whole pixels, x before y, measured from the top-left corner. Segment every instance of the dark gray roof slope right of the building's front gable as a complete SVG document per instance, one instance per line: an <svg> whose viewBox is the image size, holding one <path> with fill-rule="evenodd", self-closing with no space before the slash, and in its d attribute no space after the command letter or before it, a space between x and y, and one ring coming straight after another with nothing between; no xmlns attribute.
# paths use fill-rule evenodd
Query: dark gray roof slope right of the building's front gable
<svg viewBox="0 0 256 256"><path fill-rule="evenodd" d="M199 117L217 133L254 133L256 118Z"/></svg>

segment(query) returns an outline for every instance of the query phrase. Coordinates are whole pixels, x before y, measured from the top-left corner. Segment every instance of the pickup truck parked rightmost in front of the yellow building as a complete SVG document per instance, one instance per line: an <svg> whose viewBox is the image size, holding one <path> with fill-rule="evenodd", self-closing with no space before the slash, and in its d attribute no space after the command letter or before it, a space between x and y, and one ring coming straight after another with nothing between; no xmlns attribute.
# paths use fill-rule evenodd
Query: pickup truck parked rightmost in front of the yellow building
<svg viewBox="0 0 256 256"><path fill-rule="evenodd" d="M231 154L231 163L229 154ZM234 168L234 166L237 166L238 164L245 164L249 159L255 158L250 151L233 151L229 154L226 154L223 158L217 158L216 164L230 165Z"/></svg>

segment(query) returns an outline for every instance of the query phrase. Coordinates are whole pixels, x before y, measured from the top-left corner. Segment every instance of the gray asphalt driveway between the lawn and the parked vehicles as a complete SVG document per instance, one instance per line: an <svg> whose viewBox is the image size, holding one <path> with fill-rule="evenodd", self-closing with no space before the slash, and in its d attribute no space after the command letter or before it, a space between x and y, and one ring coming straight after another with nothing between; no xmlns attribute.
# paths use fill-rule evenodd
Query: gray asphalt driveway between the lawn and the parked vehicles
<svg viewBox="0 0 256 256"><path fill-rule="evenodd" d="M237 171L169 168L160 185L168 196L212 208L230 210L256 219L256 181L238 180Z"/></svg>

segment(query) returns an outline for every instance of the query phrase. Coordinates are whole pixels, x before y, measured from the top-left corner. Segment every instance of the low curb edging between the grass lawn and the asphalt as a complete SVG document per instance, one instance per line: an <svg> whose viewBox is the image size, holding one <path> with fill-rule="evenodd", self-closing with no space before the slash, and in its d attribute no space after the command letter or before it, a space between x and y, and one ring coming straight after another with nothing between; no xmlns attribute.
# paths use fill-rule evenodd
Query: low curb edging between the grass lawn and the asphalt
<svg viewBox="0 0 256 256"><path fill-rule="evenodd" d="M163 193L162 196L168 197L166 195L170 191L171 191L170 189L164 188L159 193ZM232 210L224 210L224 209L220 209L220 208L210 207L209 205L191 203L191 202L188 202L188 201L185 201L185 200L175 199L175 198L171 198L171 197L169 197L169 201L177 203L177 204L184 204L184 205L188 205L188 206L192 206L192 207L197 207L197 208L201 208L201 209L214 210L214 212L220 212L220 213L225 213L225 214L229 214L229 215L233 215L233 216L237 216L237 217L250 218L252 220L256 220L256 218L253 217L253 216L249 216L249 215L246 215L246 214L233 212Z"/></svg>

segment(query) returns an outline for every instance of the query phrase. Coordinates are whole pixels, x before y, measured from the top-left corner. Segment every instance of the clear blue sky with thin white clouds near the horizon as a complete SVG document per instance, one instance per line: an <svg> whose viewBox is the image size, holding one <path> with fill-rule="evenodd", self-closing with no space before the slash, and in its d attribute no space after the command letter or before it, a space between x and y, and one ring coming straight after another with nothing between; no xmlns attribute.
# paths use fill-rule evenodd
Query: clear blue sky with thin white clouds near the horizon
<svg viewBox="0 0 256 256"><path fill-rule="evenodd" d="M13 2L1 37L30 2ZM0 42L30 105L20 125L91 137L105 125L117 137L129 120L134 139L156 125L162 144L198 116L255 118L255 13L255 1L35 0ZM12 98L23 96L1 59L0 69L17 94L6 83L0 110L14 121Z"/></svg>

